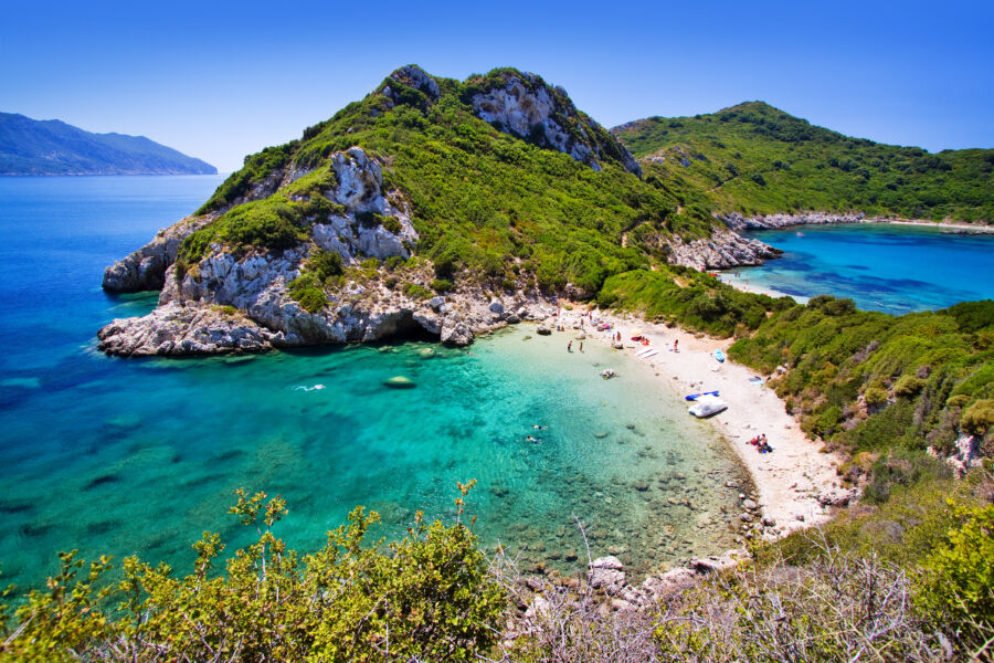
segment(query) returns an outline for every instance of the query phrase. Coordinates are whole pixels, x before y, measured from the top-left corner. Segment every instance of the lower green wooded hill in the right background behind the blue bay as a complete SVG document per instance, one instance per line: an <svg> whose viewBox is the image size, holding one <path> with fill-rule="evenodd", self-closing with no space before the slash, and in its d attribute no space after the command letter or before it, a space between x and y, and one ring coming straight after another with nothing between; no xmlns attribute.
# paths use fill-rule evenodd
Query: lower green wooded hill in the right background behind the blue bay
<svg viewBox="0 0 994 663"><path fill-rule="evenodd" d="M762 102L612 131L647 173L705 192L719 212L994 221L994 149L930 154L850 138Z"/></svg>

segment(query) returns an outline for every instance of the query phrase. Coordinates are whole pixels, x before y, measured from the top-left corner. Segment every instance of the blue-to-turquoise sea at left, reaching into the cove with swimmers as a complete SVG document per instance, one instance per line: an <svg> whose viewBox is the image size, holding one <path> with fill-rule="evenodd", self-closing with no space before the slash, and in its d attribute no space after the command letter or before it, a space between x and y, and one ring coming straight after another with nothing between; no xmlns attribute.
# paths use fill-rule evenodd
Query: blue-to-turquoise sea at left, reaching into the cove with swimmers
<svg viewBox="0 0 994 663"><path fill-rule="evenodd" d="M387 537L415 509L451 517L470 478L484 544L508 544L525 570L585 562L574 517L595 555L636 571L732 545L738 491L725 483L747 480L731 452L665 380L594 344L569 354L564 335L521 325L468 351L417 339L199 360L95 351L102 325L156 301L104 294L104 266L220 181L0 178L0 585L39 585L70 548L186 571L205 529L246 541L225 515L237 487L286 497L277 534L297 549L357 504L382 514ZM617 379L599 377L607 366ZM384 388L392 376L416 387Z"/></svg>

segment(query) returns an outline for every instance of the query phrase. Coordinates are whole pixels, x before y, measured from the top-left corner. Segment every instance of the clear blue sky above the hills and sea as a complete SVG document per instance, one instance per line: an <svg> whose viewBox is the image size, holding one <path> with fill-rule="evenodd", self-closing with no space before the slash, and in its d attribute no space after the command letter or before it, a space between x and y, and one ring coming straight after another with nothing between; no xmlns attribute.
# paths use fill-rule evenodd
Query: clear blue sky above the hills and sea
<svg viewBox="0 0 994 663"><path fill-rule="evenodd" d="M848 135L994 147L994 2L0 6L0 110L145 135L222 171L416 63L516 66L605 126L762 99Z"/></svg>

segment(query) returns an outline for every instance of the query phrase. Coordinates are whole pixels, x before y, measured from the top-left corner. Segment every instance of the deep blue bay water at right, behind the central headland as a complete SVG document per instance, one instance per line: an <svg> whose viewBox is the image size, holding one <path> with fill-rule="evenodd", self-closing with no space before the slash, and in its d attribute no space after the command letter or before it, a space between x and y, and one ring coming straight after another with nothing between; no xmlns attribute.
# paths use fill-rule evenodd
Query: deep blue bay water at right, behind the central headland
<svg viewBox="0 0 994 663"><path fill-rule="evenodd" d="M994 297L994 233L858 223L744 234L784 251L738 271L752 286L801 298L852 297L859 308L896 315Z"/></svg>

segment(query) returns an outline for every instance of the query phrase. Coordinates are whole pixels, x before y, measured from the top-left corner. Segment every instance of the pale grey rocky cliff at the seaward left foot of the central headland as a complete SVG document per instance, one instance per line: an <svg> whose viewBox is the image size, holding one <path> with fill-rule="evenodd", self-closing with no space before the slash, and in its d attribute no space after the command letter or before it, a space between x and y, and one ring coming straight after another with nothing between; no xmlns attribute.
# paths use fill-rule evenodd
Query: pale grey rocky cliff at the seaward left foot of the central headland
<svg viewBox="0 0 994 663"><path fill-rule="evenodd" d="M294 246L233 249L218 241L179 274L175 261L182 239L224 220L223 214L209 215L180 221L107 267L104 287L109 291L158 286L161 293L152 313L116 319L101 329L99 348L121 356L250 352L369 343L417 332L467 345L474 333L522 318L544 319L540 298L524 293L491 301L466 286L447 297L426 297L433 276L427 269L405 273L408 283L417 286L406 292L392 288L390 277L379 273L348 274L348 267L370 257L409 257L419 235L403 196L384 192L378 161L353 147L331 155L329 165L334 188L311 196L338 207L310 219L308 236ZM308 311L294 298L294 282L307 273L308 257L317 251L337 254L347 275L326 291L325 306Z"/></svg>

